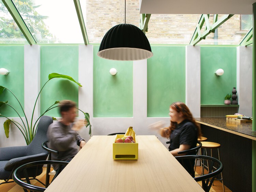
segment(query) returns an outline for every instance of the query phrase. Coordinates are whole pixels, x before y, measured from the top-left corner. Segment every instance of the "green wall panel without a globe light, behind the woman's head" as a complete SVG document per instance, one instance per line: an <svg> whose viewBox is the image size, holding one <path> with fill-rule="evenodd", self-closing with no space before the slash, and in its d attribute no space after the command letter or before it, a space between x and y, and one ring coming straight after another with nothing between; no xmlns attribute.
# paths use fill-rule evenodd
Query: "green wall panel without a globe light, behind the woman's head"
<svg viewBox="0 0 256 192"><path fill-rule="evenodd" d="M147 60L147 117L169 117L169 106L185 102L185 47L152 46Z"/></svg>

